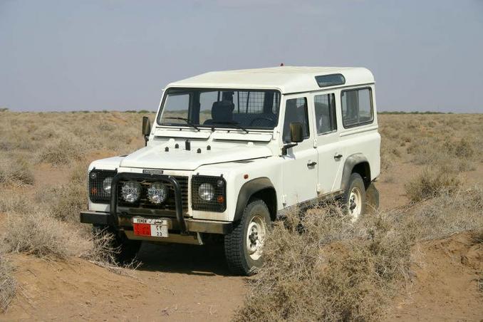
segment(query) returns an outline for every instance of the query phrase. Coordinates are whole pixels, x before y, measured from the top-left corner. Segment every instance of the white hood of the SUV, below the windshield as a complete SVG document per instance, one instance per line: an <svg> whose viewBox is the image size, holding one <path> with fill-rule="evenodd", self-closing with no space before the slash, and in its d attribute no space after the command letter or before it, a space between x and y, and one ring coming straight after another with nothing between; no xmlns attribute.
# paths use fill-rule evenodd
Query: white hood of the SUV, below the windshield
<svg viewBox="0 0 483 322"><path fill-rule="evenodd" d="M196 170L202 165L256 159L272 155L268 147L256 145L213 146L207 150L207 144L193 144L191 150L185 145L174 144L152 145L143 147L123 158L121 167L137 167L142 169ZM166 147L169 148L166 151ZM198 153L197 150L201 152Z"/></svg>

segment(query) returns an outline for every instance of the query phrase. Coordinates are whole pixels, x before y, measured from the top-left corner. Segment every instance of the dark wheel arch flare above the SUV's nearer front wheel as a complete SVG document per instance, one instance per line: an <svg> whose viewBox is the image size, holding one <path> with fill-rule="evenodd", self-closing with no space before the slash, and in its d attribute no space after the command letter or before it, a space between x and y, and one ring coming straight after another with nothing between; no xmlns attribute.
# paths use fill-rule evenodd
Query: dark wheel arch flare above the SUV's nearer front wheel
<svg viewBox="0 0 483 322"><path fill-rule="evenodd" d="M274 220L276 218L276 190L271 180L268 177L259 177L249 182L245 182L241 186L238 193L237 208L235 209L234 222L241 219L246 205L249 203L251 198L259 198L266 203L269 207L270 218Z"/></svg>

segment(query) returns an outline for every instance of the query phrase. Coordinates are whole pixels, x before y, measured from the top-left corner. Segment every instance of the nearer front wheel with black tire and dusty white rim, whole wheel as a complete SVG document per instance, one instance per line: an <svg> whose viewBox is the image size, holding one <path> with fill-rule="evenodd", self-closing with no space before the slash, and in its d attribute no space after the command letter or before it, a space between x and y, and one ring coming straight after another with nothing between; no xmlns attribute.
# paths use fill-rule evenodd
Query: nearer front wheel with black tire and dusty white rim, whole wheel
<svg viewBox="0 0 483 322"><path fill-rule="evenodd" d="M254 199L246 205L241 220L224 237L224 252L233 274L252 275L264 261L263 246L271 220L263 200Z"/></svg>

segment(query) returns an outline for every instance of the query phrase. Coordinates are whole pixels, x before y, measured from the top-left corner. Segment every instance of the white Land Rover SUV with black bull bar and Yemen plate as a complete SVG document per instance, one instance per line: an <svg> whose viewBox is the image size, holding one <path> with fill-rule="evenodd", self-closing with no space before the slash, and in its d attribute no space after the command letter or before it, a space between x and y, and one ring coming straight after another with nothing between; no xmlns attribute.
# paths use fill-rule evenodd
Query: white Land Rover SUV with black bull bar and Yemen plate
<svg viewBox="0 0 483 322"><path fill-rule="evenodd" d="M374 90L365 68L282 66L170 83L152 128L143 118L146 147L90 164L81 222L113 233L120 260L143 240L220 240L234 274L251 274L286 209L338 198L352 219L365 212L380 172Z"/></svg>

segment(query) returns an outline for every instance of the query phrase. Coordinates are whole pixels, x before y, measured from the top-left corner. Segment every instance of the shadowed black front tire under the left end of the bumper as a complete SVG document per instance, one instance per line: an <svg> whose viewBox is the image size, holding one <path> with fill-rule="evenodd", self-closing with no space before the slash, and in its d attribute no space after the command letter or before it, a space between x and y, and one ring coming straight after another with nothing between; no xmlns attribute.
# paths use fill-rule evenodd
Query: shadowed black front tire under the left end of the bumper
<svg viewBox="0 0 483 322"><path fill-rule="evenodd" d="M113 227L103 225L93 225L93 234L112 234L111 247L115 250L115 261L117 264L130 264L136 257L142 241L131 240L120 234Z"/></svg>

